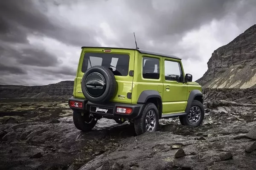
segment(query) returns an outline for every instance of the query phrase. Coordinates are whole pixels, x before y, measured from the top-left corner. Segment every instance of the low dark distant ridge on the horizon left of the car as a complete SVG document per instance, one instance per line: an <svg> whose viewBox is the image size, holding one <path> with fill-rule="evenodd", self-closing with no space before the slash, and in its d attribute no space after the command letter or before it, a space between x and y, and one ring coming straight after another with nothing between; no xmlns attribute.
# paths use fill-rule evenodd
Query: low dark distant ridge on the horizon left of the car
<svg viewBox="0 0 256 170"><path fill-rule="evenodd" d="M0 85L0 99L68 98L73 93L73 81L41 86Z"/></svg>

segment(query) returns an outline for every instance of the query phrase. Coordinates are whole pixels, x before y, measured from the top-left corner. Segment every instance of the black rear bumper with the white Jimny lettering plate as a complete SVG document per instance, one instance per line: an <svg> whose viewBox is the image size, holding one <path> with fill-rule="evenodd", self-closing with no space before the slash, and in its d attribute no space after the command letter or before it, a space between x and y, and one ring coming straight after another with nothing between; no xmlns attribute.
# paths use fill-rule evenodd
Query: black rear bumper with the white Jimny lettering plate
<svg viewBox="0 0 256 170"><path fill-rule="evenodd" d="M83 103L82 108L76 108L76 107L70 106L70 101L82 102ZM91 103L87 99L81 99L81 98L75 98L75 97L71 97L68 99L68 105L73 111L89 112L96 116L127 118L127 119L136 119L137 117L139 117L144 107L144 105L142 104L125 104L125 103L116 103L116 102L111 102L105 105L101 105L101 104ZM116 107L132 108L132 112L130 114L116 113Z"/></svg>

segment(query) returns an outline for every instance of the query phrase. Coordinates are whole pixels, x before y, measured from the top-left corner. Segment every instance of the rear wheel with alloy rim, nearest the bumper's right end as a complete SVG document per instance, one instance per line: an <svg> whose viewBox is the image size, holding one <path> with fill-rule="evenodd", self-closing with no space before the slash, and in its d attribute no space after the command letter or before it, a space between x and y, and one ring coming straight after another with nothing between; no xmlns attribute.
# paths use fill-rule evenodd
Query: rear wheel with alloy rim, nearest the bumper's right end
<svg viewBox="0 0 256 170"><path fill-rule="evenodd" d="M145 105L140 118L134 120L134 128L137 135L145 132L155 132L159 122L158 109L153 103Z"/></svg>

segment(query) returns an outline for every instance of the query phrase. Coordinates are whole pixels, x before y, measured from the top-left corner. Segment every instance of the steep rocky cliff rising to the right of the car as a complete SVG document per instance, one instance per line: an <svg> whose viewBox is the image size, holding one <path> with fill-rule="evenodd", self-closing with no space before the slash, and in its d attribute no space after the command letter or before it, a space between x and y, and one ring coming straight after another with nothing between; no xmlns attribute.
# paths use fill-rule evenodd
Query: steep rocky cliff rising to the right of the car
<svg viewBox="0 0 256 170"><path fill-rule="evenodd" d="M256 88L256 25L212 53L203 88Z"/></svg>

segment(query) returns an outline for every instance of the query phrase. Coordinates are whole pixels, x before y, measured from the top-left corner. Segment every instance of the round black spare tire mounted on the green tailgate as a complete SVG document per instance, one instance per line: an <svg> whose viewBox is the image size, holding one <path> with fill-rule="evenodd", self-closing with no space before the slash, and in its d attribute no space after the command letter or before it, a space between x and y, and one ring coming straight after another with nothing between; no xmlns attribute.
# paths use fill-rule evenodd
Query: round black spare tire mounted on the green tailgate
<svg viewBox="0 0 256 170"><path fill-rule="evenodd" d="M108 102L115 93L116 79L113 72L104 66L89 68L81 81L84 97L92 103Z"/></svg>

